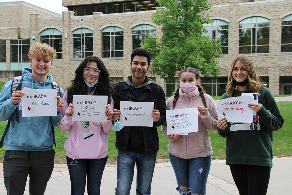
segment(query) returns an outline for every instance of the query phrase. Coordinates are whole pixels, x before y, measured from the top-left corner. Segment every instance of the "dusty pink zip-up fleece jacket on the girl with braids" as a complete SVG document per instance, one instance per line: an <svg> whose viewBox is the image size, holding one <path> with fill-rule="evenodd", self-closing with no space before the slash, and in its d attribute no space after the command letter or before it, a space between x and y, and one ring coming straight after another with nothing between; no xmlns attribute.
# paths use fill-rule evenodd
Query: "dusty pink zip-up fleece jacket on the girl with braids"
<svg viewBox="0 0 292 195"><path fill-rule="evenodd" d="M166 122L162 125L162 133L164 137L169 140L168 151L170 154L184 159L206 157L212 154L213 151L207 129L211 132L217 132L217 107L210 95L204 94L204 96L206 98L208 115L203 116L198 111L198 132L192 132L188 135L179 135L177 140L170 140L170 135L167 135ZM166 110L172 109L173 98L174 96L166 101ZM194 91L189 92L188 94L183 93L182 90L179 89L179 98L174 109L196 108L198 106L204 106L204 103L197 87Z"/></svg>

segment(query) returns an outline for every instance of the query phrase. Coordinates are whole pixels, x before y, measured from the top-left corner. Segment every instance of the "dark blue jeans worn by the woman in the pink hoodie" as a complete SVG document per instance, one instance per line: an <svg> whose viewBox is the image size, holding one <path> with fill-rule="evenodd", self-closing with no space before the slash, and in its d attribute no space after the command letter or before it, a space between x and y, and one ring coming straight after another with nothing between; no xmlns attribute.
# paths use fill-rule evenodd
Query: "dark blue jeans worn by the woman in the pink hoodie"
<svg viewBox="0 0 292 195"><path fill-rule="evenodd" d="M86 173L87 193L89 195L99 195L101 178L103 176L103 169L106 165L107 157L75 160L76 159L73 160L67 156L67 165L71 181L71 195L84 195Z"/></svg>

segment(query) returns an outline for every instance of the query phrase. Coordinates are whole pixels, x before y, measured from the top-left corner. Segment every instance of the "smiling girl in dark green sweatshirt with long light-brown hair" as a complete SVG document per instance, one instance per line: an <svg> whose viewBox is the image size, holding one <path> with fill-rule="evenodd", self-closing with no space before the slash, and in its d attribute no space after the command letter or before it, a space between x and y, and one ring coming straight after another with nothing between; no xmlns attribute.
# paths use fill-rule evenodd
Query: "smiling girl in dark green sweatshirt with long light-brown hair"
<svg viewBox="0 0 292 195"><path fill-rule="evenodd" d="M236 57L232 64L221 99L258 93L259 102L249 107L257 112L252 123L228 122L224 117L217 122L218 133L226 137L226 164L240 195L265 195L273 159L273 132L284 123L273 93L266 88L255 72L251 59Z"/></svg>

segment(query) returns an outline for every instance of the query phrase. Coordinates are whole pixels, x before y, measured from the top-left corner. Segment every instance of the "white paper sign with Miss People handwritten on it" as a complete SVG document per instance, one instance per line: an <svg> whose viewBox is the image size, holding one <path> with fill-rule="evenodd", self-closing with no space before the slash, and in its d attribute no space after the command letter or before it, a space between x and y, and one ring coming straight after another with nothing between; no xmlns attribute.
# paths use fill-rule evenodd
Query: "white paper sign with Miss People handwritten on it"
<svg viewBox="0 0 292 195"><path fill-rule="evenodd" d="M23 88L22 116L57 116L57 90Z"/></svg>

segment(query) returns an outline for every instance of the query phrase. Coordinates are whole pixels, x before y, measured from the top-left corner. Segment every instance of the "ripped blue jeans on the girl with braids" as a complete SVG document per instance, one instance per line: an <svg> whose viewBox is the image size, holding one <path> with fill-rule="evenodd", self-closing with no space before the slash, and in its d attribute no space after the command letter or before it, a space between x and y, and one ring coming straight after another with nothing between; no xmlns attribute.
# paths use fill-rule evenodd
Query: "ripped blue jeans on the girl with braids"
<svg viewBox="0 0 292 195"><path fill-rule="evenodd" d="M169 160L176 175L176 188L182 194L206 194L207 178L211 166L211 155L183 159L169 153ZM181 190L185 192L182 192ZM189 192L186 192L190 190Z"/></svg>

